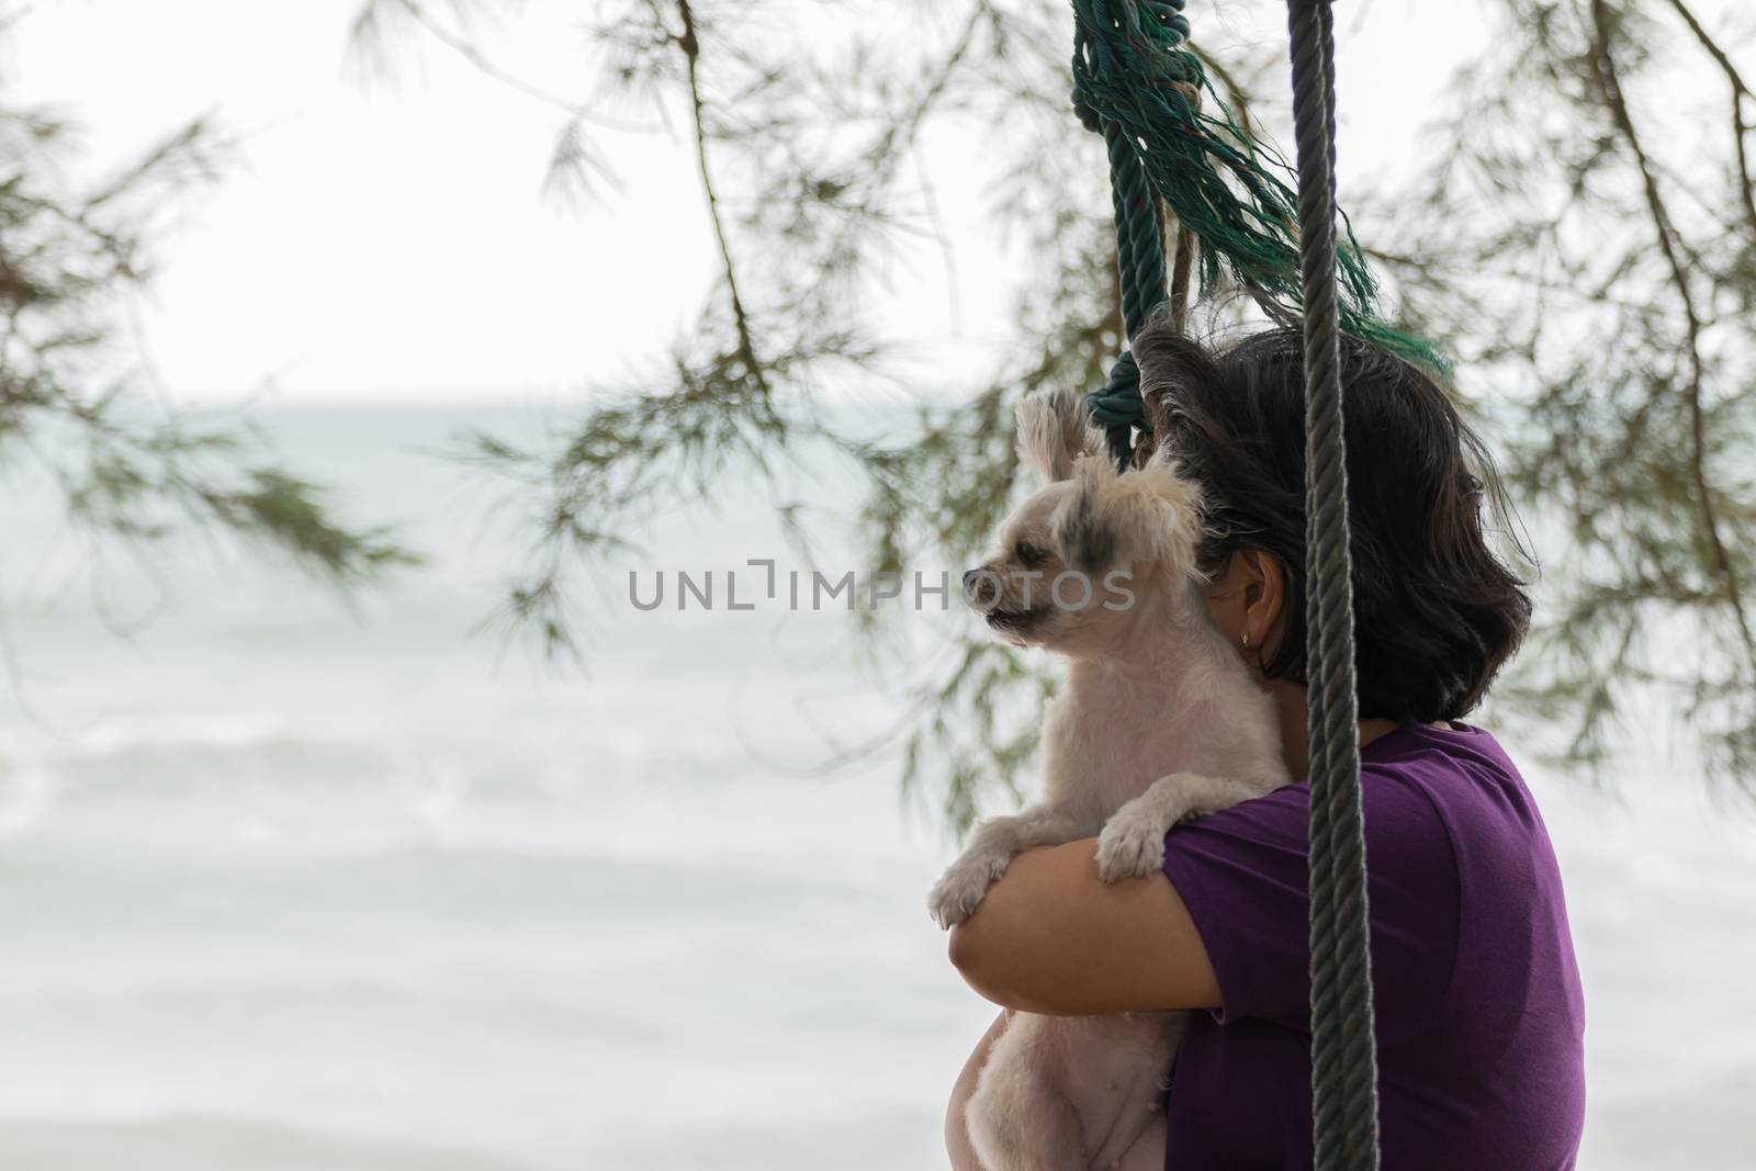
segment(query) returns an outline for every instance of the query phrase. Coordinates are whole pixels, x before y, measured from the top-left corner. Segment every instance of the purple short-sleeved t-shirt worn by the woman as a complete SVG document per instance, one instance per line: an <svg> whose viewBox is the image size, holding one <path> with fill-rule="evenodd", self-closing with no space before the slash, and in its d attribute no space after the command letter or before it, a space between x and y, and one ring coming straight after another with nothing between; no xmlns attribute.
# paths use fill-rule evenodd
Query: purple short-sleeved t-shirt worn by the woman
<svg viewBox="0 0 1756 1171"><path fill-rule="evenodd" d="M1480 729L1361 757L1384 1167L1572 1167L1586 1013L1536 804ZM1224 1002L1177 1059L1169 1171L1312 1166L1308 809L1299 781L1166 837Z"/></svg>

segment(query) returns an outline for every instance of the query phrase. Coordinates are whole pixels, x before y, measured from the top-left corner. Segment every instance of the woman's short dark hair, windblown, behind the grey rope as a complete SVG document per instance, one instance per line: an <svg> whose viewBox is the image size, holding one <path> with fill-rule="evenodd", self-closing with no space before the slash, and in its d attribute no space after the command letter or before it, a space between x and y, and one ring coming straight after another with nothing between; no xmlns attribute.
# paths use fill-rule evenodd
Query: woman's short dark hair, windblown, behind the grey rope
<svg viewBox="0 0 1756 1171"><path fill-rule="evenodd" d="M1271 678L1305 681L1305 365L1271 330L1210 351L1166 325L1133 342L1159 444L1206 495L1201 558L1277 557L1285 637ZM1342 339L1359 715L1403 723L1475 708L1517 650L1531 602L1489 548L1493 460L1445 392L1401 358Z"/></svg>

